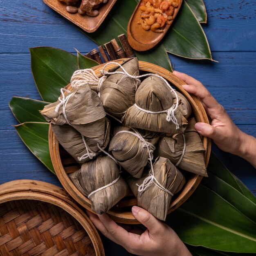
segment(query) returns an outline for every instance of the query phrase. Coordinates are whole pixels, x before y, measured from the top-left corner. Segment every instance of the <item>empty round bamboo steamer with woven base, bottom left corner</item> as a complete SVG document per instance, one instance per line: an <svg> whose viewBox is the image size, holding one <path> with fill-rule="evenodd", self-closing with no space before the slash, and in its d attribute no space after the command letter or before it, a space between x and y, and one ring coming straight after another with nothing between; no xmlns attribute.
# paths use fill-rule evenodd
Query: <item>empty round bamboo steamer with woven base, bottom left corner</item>
<svg viewBox="0 0 256 256"><path fill-rule="evenodd" d="M15 180L0 185L0 255L105 254L94 225L63 189Z"/></svg>

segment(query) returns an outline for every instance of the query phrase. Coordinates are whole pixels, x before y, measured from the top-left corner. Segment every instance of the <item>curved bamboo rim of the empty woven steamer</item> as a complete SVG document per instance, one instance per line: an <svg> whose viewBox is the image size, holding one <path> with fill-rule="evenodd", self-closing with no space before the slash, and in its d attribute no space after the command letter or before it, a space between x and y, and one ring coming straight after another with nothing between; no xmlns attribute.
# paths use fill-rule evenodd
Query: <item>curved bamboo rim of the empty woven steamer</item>
<svg viewBox="0 0 256 256"><path fill-rule="evenodd" d="M97 229L85 212L61 187L38 180L13 180L1 184L0 204L13 200L38 200L60 207L85 229L92 241L96 256L105 256Z"/></svg>

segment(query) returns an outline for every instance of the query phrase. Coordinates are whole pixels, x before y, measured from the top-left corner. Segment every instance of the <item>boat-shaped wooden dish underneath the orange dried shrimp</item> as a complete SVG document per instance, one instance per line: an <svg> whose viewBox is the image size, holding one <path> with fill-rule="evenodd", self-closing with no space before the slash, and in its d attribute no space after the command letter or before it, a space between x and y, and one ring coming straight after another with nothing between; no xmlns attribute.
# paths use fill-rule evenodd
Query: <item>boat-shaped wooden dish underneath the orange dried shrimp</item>
<svg viewBox="0 0 256 256"><path fill-rule="evenodd" d="M129 20L127 26L127 39L133 49L137 51L146 51L153 48L162 40L169 27L171 26L173 20L177 16L178 11L180 10L182 0L178 0L179 6L174 9L173 20L171 21L171 24L165 24L161 33L153 32L150 29L145 30L142 28L141 24L137 24L137 22L141 20L141 11L139 9L141 1L143 0L139 1Z"/></svg>

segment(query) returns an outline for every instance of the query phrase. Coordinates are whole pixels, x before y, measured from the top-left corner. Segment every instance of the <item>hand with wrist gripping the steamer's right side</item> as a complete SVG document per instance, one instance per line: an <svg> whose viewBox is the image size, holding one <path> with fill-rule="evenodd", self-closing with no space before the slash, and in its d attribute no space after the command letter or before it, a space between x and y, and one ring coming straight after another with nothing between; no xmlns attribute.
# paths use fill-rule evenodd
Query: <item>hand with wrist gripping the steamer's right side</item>
<svg viewBox="0 0 256 256"><path fill-rule="evenodd" d="M223 151L239 155L256 166L256 139L242 132L231 120L210 92L196 79L187 74L174 71L173 74L187 85L182 87L201 99L211 118L211 124L197 123L195 129L203 136L210 137Z"/></svg>

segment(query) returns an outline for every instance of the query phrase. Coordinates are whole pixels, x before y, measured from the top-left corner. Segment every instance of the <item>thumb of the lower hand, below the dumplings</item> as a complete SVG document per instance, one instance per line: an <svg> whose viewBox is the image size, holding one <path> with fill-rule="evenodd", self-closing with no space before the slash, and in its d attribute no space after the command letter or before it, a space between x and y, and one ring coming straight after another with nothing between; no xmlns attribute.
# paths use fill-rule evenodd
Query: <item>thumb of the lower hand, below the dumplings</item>
<svg viewBox="0 0 256 256"><path fill-rule="evenodd" d="M134 206L132 207L132 214L148 229L150 234L159 234L159 229L162 227L162 222L157 220L157 218L155 218L151 213L140 207Z"/></svg>

